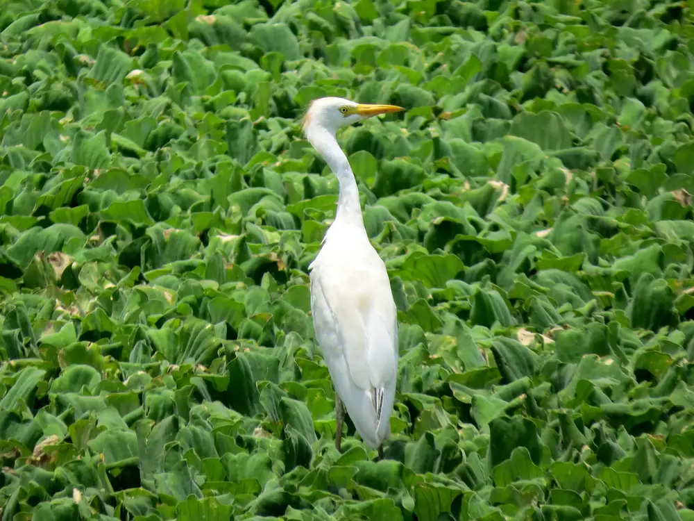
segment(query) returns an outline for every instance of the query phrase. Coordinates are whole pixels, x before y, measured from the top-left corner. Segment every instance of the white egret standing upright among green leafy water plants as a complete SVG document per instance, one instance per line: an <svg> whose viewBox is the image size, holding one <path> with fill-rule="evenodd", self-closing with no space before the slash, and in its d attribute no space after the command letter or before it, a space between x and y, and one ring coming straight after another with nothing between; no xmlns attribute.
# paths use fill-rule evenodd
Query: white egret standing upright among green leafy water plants
<svg viewBox="0 0 694 521"><path fill-rule="evenodd" d="M303 119L307 141L339 181L335 219L308 267L316 340L335 388L335 448L341 452L346 412L380 459L383 442L391 434L395 402L397 310L385 264L366 233L357 181L337 142L337 131L401 110L405 109L323 97L311 102Z"/></svg>

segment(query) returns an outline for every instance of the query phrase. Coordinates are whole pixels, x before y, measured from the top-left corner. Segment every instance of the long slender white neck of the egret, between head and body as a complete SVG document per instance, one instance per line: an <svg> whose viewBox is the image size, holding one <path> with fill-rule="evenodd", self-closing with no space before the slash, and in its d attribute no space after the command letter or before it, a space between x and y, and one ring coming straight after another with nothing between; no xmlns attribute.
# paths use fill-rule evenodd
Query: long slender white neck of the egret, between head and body
<svg viewBox="0 0 694 521"><path fill-rule="evenodd" d="M359 189L357 181L349 165L347 156L340 148L335 138L335 131L325 129L323 126L309 124L306 128L306 138L321 154L325 162L337 176L340 185L339 198L337 199L337 215L335 222L353 222L364 226L362 207L359 204Z"/></svg>

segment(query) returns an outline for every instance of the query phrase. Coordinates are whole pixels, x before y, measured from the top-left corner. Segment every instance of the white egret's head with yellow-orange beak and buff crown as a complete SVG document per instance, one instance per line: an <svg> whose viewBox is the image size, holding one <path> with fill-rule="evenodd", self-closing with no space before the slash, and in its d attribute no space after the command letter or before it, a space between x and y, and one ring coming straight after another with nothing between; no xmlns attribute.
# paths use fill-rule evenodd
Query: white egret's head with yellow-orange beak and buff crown
<svg viewBox="0 0 694 521"><path fill-rule="evenodd" d="M358 104L344 98L319 98L312 101L303 120L303 129L318 126L337 133L343 126L363 121L367 117L405 110L395 105Z"/></svg>

